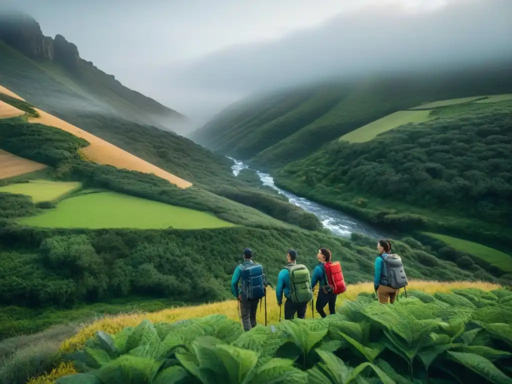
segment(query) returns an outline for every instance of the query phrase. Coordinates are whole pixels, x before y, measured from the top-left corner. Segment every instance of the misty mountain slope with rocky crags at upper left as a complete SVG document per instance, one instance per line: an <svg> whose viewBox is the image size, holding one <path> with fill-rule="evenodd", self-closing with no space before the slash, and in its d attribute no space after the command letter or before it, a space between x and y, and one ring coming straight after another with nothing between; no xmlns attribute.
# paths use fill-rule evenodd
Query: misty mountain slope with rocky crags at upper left
<svg viewBox="0 0 512 384"><path fill-rule="evenodd" d="M77 110L93 111L171 130L186 120L81 58L65 37L45 36L30 16L0 15L0 57L0 83L59 117Z"/></svg>

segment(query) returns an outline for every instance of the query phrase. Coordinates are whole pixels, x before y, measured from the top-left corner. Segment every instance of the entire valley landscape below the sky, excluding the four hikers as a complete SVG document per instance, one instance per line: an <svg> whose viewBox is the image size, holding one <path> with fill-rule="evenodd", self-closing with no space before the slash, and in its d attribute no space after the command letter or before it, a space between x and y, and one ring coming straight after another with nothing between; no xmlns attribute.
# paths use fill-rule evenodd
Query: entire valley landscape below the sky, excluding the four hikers
<svg viewBox="0 0 512 384"><path fill-rule="evenodd" d="M253 94L184 137L0 12L0 384L512 383L512 61L421 68ZM245 247L268 282L247 332ZM321 247L336 313L316 288L285 320L287 250L311 275Z"/></svg>

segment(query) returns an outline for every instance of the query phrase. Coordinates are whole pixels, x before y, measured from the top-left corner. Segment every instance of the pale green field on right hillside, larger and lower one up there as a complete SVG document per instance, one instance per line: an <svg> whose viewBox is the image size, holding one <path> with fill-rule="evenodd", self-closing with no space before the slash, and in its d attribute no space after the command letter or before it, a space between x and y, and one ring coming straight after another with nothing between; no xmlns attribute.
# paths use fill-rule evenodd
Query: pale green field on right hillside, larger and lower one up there
<svg viewBox="0 0 512 384"><path fill-rule="evenodd" d="M386 132L397 126L407 123L419 123L429 119L430 111L398 111L381 119L372 121L370 124L343 135L339 140L349 141L351 143L361 143L370 141L379 133Z"/></svg>

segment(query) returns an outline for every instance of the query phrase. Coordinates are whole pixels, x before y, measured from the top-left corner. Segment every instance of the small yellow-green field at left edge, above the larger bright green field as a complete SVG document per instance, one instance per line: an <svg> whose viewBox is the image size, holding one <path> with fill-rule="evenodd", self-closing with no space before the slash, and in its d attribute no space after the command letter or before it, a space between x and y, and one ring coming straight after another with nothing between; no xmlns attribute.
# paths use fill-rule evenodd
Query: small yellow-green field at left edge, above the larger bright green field
<svg viewBox="0 0 512 384"><path fill-rule="evenodd" d="M78 182L61 182L50 180L30 180L28 183L19 183L0 187L0 192L27 195L34 203L41 201L55 201L80 188Z"/></svg>

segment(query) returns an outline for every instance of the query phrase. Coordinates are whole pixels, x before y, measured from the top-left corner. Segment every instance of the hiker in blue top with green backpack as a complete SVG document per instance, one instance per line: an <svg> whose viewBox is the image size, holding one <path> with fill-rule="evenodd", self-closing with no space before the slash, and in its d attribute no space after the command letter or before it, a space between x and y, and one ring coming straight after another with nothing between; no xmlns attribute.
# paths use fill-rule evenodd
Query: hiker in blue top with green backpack
<svg viewBox="0 0 512 384"><path fill-rule="evenodd" d="M297 251L288 249L286 255L288 265L278 275L278 285L275 295L278 305L283 304L283 293L286 297L285 320L290 320L297 313L298 318L306 317L308 302L313 298L311 291L309 271L305 265L297 264Z"/></svg>

